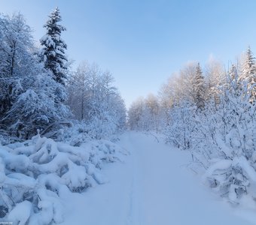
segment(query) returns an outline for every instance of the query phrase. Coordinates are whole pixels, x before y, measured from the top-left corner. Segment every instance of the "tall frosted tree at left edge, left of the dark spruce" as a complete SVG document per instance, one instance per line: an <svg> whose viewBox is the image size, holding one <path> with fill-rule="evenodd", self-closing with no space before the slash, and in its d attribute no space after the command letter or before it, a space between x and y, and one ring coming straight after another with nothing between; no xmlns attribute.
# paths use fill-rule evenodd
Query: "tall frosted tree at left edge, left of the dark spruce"
<svg viewBox="0 0 256 225"><path fill-rule="evenodd" d="M23 15L0 16L0 119L22 91L20 80L32 72L31 29Z"/></svg>

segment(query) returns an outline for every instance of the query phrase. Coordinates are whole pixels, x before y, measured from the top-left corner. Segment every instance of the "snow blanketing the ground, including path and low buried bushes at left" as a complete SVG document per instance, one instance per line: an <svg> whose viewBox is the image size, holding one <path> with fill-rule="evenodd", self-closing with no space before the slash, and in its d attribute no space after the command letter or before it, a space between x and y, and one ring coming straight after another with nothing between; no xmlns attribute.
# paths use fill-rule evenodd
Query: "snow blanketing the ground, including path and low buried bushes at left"
<svg viewBox="0 0 256 225"><path fill-rule="evenodd" d="M229 201L212 192L190 169L190 152L163 142L157 133L127 131L116 143L88 139L80 146L39 135L0 149L0 221L14 224L256 224L254 168L245 157L213 158L203 181L223 171ZM23 154L24 153L24 154ZM110 163L115 162L115 163ZM225 184L225 183L224 183ZM215 187L217 189L217 187ZM5 215L5 213L7 213ZM20 222L19 222L20 221Z"/></svg>

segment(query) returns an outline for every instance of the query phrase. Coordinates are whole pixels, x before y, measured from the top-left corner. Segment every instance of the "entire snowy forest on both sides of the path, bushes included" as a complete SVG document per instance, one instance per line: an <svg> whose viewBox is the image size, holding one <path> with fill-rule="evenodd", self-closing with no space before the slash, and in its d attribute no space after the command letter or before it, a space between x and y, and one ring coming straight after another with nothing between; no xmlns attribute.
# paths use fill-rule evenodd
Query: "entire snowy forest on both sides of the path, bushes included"
<svg viewBox="0 0 256 225"><path fill-rule="evenodd" d="M107 182L102 168L129 157L118 141L133 131L187 151L189 169L231 205L254 204L250 46L230 65L187 63L126 110L111 71L88 61L74 69L58 7L42 26L35 40L21 13L0 15L0 221L62 223L62 197Z"/></svg>

